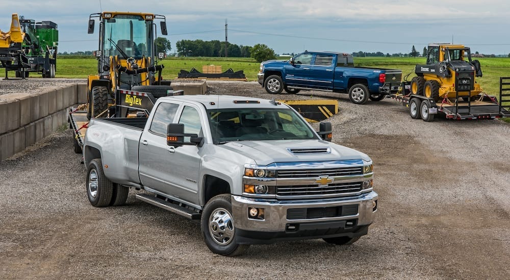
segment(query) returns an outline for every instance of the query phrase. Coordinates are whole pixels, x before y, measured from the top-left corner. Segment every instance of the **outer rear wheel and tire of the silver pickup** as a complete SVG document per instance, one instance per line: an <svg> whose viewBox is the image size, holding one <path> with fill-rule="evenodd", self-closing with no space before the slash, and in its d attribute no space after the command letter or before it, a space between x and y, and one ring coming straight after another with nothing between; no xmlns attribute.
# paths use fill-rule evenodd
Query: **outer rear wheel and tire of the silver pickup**
<svg viewBox="0 0 510 280"><path fill-rule="evenodd" d="M103 162L100 158L90 161L87 169L87 197L94 207L109 206L112 201L113 183L103 172Z"/></svg>

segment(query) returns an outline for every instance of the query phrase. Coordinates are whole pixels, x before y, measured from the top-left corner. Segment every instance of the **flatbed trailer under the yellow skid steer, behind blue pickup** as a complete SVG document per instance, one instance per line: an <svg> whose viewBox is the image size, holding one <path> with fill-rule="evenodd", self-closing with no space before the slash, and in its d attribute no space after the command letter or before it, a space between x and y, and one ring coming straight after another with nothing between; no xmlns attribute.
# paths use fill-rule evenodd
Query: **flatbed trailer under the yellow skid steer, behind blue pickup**
<svg viewBox="0 0 510 280"><path fill-rule="evenodd" d="M426 122L434 120L436 115L444 114L451 120L496 119L510 117L510 77L500 78L499 101L495 96L481 93L474 98L463 96L456 92L455 98L444 98L435 101L422 95L410 93L410 82L401 83L401 89L391 98L409 107L409 114L413 119L422 119Z"/></svg>

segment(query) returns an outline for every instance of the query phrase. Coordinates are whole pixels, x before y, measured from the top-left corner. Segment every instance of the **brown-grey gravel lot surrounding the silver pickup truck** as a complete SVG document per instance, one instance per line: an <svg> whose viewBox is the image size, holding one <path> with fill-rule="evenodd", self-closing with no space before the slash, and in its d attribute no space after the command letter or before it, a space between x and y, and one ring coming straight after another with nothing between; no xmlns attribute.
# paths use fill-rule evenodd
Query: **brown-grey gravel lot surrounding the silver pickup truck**
<svg viewBox="0 0 510 280"><path fill-rule="evenodd" d="M34 89L43 81L29 80ZM197 224L133 191L126 206L92 207L66 130L0 163L0 278L510 277L510 125L426 123L390 99L354 105L329 93L271 96L256 82L208 85L215 94L338 98L334 142L375 163L369 234L347 246L304 240L214 255Z"/></svg>

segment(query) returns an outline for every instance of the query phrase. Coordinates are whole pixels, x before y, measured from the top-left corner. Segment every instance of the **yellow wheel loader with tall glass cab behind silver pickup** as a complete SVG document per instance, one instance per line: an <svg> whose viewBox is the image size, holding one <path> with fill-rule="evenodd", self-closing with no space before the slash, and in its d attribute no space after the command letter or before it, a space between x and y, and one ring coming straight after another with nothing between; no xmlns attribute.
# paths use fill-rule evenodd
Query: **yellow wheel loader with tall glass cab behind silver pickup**
<svg viewBox="0 0 510 280"><path fill-rule="evenodd" d="M87 118L120 117L116 100L119 90L150 93L155 97L172 92L170 80L163 80L155 40L155 21L162 35L168 35L166 18L151 13L102 12L91 14L88 33L99 21L99 47L94 52L97 73L88 76Z"/></svg>

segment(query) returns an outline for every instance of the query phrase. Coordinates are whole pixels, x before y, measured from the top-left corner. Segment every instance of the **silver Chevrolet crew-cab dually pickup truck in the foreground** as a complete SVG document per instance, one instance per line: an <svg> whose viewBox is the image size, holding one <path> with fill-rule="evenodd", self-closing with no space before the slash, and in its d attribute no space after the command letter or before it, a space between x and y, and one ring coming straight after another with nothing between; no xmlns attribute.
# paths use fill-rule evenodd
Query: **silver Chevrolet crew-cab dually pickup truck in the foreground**
<svg viewBox="0 0 510 280"><path fill-rule="evenodd" d="M350 244L377 210L373 164L293 108L239 96L159 98L148 118L91 119L83 156L96 207L136 198L199 220L213 253L322 238Z"/></svg>

